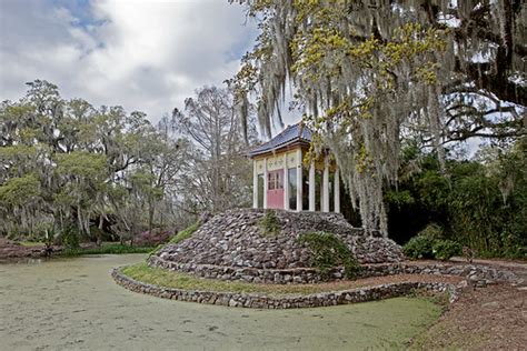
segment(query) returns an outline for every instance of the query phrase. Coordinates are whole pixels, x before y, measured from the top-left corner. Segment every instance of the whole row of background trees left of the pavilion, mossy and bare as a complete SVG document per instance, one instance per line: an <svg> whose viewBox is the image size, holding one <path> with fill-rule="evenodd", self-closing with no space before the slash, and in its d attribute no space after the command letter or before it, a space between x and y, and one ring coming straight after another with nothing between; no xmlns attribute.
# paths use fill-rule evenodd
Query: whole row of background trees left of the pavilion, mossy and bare
<svg viewBox="0 0 527 351"><path fill-rule="evenodd" d="M139 111L63 99L43 80L28 87L0 106L0 233L128 240L249 203L230 91L199 89L155 126ZM246 136L255 142L255 130Z"/></svg>

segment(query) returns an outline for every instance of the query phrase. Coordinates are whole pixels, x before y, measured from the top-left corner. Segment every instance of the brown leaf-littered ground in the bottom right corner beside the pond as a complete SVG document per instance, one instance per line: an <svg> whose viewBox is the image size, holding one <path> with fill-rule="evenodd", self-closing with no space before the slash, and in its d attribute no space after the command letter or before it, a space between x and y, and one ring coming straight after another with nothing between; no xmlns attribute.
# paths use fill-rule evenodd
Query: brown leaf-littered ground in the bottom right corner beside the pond
<svg viewBox="0 0 527 351"><path fill-rule="evenodd" d="M415 349L527 350L527 263L497 259L475 259L473 263L511 271L524 281L465 290L439 321L415 340Z"/></svg>

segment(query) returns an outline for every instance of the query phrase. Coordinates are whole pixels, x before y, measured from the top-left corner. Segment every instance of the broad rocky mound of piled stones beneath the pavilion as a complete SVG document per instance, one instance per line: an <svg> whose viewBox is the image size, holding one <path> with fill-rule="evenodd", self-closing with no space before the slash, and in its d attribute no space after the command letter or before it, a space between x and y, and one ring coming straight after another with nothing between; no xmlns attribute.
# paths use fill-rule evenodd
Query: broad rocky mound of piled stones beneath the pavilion
<svg viewBox="0 0 527 351"><path fill-rule="evenodd" d="M400 262L401 248L390 239L371 237L351 227L340 213L276 210L280 231L265 234L265 210L232 210L216 214L191 238L167 244L150 265L192 272L198 267L256 270L309 268L310 250L298 241L301 233L326 231L339 235L360 263Z"/></svg>

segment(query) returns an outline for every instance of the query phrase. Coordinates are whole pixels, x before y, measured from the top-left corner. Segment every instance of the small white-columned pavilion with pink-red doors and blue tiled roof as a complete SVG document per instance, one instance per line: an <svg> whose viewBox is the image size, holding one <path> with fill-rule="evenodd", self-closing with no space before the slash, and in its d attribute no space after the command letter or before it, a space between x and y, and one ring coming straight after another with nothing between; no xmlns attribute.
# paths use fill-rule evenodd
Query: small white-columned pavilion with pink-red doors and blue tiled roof
<svg viewBox="0 0 527 351"><path fill-rule="evenodd" d="M300 122L249 152L255 209L340 212L339 170L329 152L306 164L310 143Z"/></svg>

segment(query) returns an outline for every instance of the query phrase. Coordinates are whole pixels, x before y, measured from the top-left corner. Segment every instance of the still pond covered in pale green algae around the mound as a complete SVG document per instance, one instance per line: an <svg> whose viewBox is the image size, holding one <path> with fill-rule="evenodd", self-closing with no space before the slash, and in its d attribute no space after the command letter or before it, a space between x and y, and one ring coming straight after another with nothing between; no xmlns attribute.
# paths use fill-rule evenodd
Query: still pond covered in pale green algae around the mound
<svg viewBox="0 0 527 351"><path fill-rule="evenodd" d="M117 285L143 254L0 264L0 350L405 349L440 307L417 298L299 310L158 299Z"/></svg>

